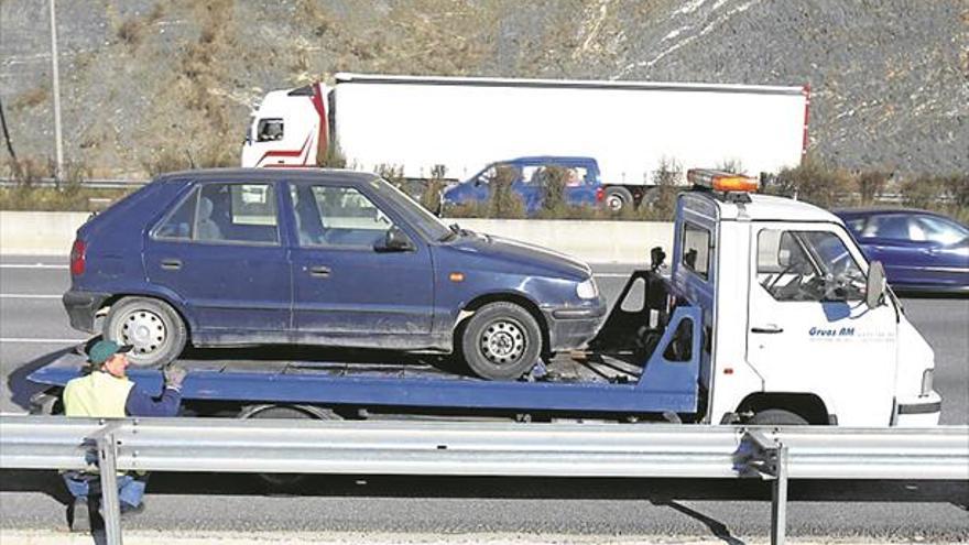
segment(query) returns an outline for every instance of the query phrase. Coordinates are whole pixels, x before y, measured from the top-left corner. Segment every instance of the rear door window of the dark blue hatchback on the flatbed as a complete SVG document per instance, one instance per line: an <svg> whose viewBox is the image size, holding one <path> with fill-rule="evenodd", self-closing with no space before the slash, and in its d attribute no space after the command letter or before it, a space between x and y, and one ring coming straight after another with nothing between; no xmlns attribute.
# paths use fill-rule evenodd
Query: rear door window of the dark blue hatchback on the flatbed
<svg viewBox="0 0 969 545"><path fill-rule="evenodd" d="M195 214L202 242L279 244L275 190L270 184L206 184Z"/></svg>

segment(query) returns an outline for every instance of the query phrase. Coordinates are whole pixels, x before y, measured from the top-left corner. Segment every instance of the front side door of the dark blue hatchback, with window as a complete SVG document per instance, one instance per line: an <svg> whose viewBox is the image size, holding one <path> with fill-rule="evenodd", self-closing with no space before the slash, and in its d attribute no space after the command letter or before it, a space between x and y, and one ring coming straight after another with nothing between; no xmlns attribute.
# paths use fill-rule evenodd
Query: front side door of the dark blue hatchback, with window
<svg viewBox="0 0 969 545"><path fill-rule="evenodd" d="M431 249L364 184L290 183L293 320L298 339L406 348L431 335ZM380 248L391 229L412 243Z"/></svg>

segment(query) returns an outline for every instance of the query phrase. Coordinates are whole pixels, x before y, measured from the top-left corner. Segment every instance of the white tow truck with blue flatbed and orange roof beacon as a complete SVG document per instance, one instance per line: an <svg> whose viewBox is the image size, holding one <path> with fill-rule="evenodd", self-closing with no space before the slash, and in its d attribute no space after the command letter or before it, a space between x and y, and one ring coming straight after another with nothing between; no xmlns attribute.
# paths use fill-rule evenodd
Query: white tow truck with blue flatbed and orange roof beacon
<svg viewBox="0 0 969 545"><path fill-rule="evenodd" d="M186 414L303 418L513 418L690 424L933 426L932 348L843 224L756 194L754 178L692 170L672 263L651 252L588 349L513 381L448 369L438 356L279 351L181 360ZM236 352L238 353L238 352ZM37 412L84 372L64 355L29 380ZM149 391L157 370L132 369Z"/></svg>

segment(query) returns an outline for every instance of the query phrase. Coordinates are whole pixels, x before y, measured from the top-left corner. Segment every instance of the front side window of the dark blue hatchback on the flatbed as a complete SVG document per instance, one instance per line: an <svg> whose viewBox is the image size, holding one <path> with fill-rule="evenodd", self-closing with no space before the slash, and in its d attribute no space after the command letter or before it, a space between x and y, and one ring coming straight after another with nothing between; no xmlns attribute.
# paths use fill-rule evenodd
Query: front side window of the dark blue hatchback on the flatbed
<svg viewBox="0 0 969 545"><path fill-rule="evenodd" d="M383 240L393 221L355 187L290 186L302 247L367 248Z"/></svg>

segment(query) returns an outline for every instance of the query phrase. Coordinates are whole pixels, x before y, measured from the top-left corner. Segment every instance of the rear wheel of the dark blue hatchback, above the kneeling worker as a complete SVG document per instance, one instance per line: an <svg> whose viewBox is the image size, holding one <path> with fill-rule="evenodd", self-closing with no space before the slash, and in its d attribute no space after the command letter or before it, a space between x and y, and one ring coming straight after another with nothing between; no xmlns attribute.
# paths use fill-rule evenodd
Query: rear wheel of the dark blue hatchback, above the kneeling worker
<svg viewBox="0 0 969 545"><path fill-rule="evenodd" d="M105 338L131 345L128 360L132 367L160 368L182 353L188 329L182 316L164 301L150 297L123 297L105 319Z"/></svg>

